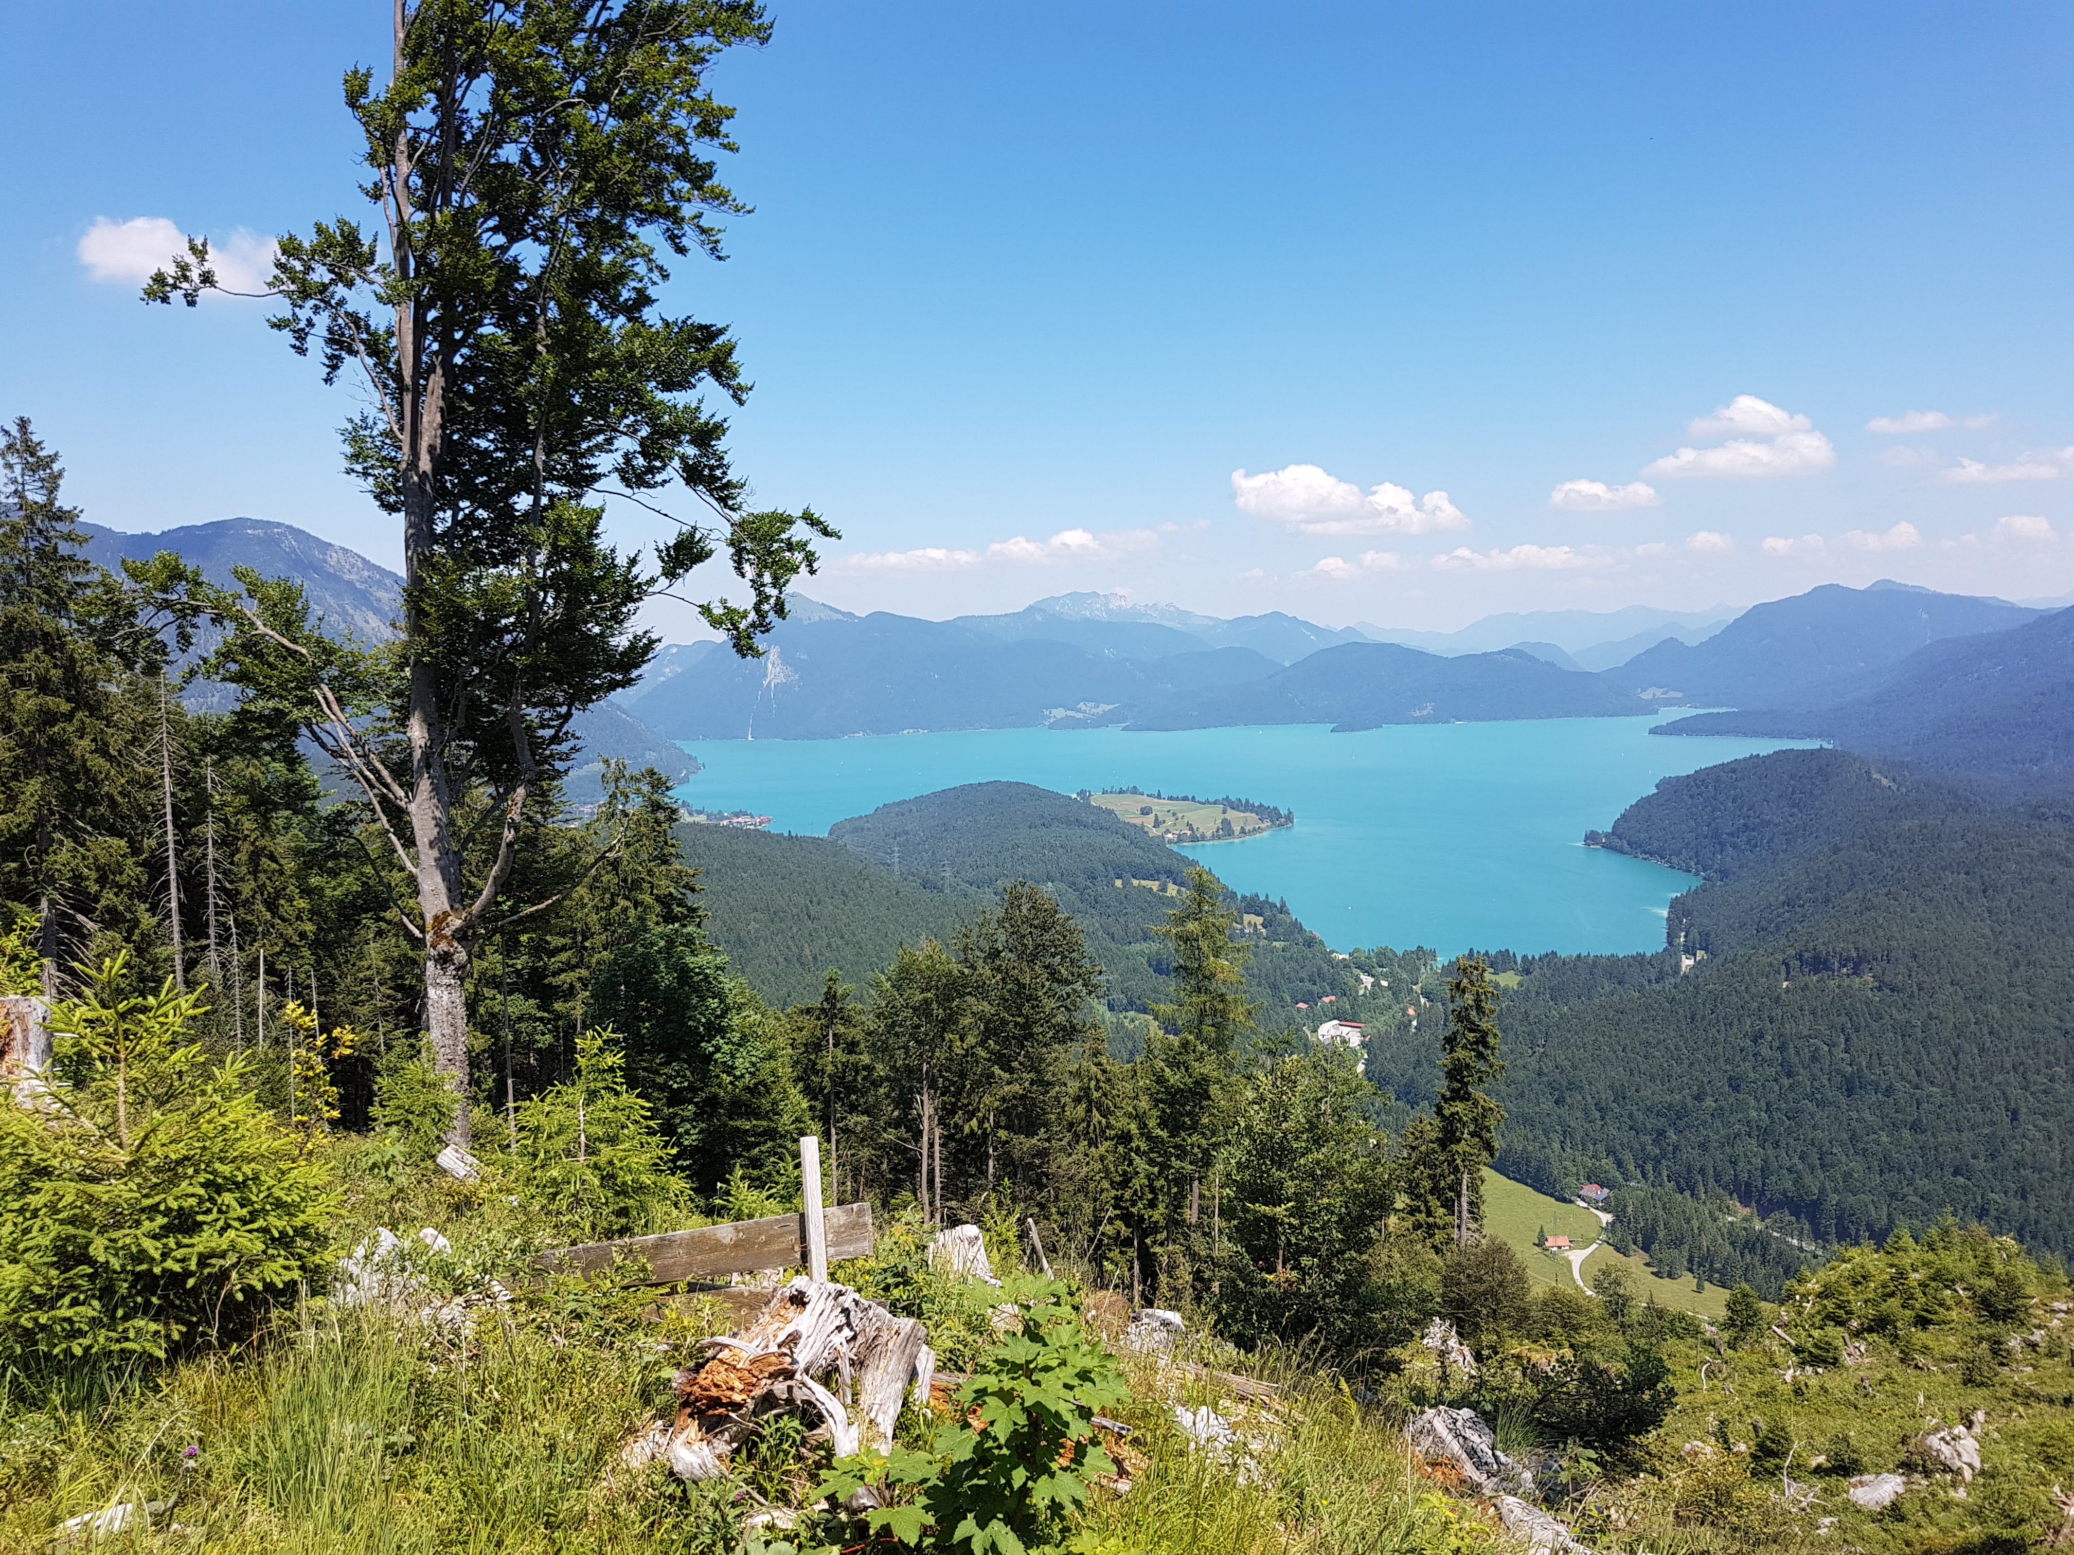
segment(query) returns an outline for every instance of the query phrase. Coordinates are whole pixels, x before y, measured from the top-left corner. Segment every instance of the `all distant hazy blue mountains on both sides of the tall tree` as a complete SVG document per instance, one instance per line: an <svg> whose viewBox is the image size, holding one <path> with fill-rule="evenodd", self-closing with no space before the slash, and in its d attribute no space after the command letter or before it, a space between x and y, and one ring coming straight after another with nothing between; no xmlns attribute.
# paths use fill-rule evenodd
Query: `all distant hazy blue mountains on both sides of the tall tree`
<svg viewBox="0 0 2074 1555"><path fill-rule="evenodd" d="M232 562L303 583L313 612L390 630L402 578L290 525L226 518L160 535L89 527L95 560L176 549L230 583ZM1446 724L1736 707L1678 732L1835 738L1939 765L1987 746L2022 782L2070 767L2074 616L1898 583L1823 585L1744 612L1531 612L1458 632L1329 628L1282 612L1224 620L1116 593L998 616L857 616L794 597L761 659L664 647L643 680L581 719L574 792L597 759L689 775L676 740L832 738L973 728L1143 730L1232 724ZM1950 751L1943 753L1950 765Z"/></svg>

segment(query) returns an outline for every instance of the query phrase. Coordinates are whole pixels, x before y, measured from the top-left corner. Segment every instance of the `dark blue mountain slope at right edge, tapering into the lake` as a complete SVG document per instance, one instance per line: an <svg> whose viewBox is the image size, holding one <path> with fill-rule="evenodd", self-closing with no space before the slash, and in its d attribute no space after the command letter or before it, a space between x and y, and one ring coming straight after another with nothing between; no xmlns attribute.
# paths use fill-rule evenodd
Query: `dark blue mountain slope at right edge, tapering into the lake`
<svg viewBox="0 0 2074 1555"><path fill-rule="evenodd" d="M2074 610L1933 643L1819 709L1699 713L1663 734L1796 734L2014 792L2074 786Z"/></svg>

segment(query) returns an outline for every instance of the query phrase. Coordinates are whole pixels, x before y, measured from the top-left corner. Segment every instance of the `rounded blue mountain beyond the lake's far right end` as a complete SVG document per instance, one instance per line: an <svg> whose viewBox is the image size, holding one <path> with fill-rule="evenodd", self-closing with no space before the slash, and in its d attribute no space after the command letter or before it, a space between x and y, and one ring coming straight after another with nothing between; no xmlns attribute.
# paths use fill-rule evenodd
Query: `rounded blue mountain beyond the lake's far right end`
<svg viewBox="0 0 2074 1555"><path fill-rule="evenodd" d="M1929 643L2010 630L2037 614L1898 583L1825 583L1753 605L1705 643L1657 643L1605 680L1628 692L1676 690L1699 707L1809 707L1865 690Z"/></svg>

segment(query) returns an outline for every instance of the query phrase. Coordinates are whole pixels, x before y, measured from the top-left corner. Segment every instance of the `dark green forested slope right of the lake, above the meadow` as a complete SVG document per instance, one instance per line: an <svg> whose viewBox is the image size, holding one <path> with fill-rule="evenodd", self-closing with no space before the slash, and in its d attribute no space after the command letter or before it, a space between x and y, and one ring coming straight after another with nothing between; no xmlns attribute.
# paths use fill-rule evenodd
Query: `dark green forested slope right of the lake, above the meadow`
<svg viewBox="0 0 2074 1555"><path fill-rule="evenodd" d="M1798 751L1667 782L1614 836L1719 875L1672 908L1705 956L1518 962L1502 1169L2074 1250L2074 815Z"/></svg>

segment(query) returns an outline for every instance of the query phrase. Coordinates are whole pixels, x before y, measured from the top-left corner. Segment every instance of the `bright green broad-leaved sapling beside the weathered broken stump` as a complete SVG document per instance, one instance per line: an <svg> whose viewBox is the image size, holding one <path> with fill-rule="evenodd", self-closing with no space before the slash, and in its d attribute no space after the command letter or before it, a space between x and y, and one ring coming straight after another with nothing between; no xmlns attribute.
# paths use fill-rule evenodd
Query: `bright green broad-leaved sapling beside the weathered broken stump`
<svg viewBox="0 0 2074 1555"><path fill-rule="evenodd" d="M1097 1410L1128 1395L1110 1354L1087 1337L1066 1290L1020 1277L1006 1288L1020 1327L981 1358L958 1391L958 1418L931 1451L894 1447L840 1460L819 1495L869 1491L873 1543L1025 1555L1056 1549L1064 1518L1116 1464L1095 1437Z"/></svg>

